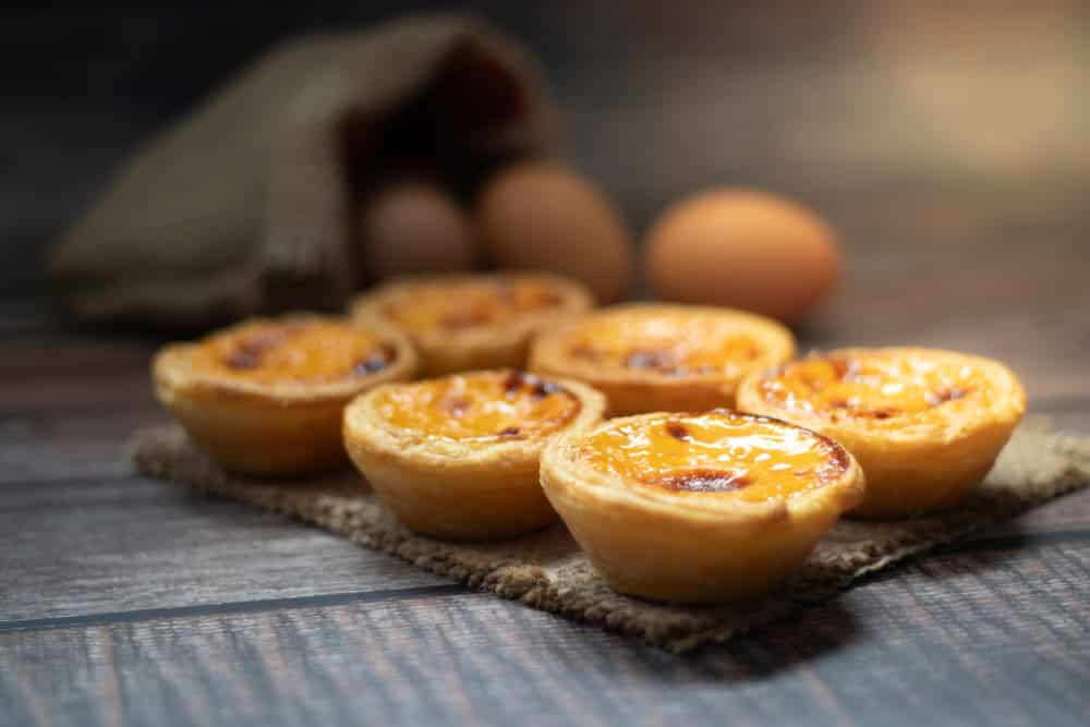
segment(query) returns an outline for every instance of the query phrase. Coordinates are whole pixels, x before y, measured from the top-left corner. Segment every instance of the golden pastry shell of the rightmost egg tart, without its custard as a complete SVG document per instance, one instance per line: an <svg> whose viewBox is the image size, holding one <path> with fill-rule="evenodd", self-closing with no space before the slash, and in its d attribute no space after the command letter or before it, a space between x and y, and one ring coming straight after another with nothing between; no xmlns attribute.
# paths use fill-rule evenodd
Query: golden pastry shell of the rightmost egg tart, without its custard
<svg viewBox="0 0 1090 727"><path fill-rule="evenodd" d="M849 514L892 519L923 514L965 501L992 469L1026 411L1026 391L1003 364L934 349L840 349L836 355L898 352L972 366L989 386L982 405L944 404L924 415L885 420L845 417L833 422L814 412L766 400L761 383L776 372L747 377L738 390L742 411L790 421L836 439L867 473L867 497Z"/></svg>

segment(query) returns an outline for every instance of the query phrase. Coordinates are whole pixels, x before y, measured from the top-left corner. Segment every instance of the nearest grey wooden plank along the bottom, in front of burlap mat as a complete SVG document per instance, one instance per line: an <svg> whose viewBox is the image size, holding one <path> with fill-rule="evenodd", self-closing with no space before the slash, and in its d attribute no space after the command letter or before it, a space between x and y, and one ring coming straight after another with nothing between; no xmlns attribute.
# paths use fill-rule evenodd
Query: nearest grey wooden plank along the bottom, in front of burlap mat
<svg viewBox="0 0 1090 727"><path fill-rule="evenodd" d="M0 703L21 724L1081 725L1088 572L1086 543L947 554L688 658L476 594L120 617L0 633Z"/></svg>

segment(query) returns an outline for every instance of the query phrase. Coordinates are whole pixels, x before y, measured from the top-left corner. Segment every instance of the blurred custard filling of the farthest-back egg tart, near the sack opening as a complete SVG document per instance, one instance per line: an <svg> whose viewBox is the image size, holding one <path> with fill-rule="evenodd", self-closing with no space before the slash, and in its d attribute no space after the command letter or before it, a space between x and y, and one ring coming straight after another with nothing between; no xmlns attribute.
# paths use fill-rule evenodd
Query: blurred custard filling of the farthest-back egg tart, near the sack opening
<svg viewBox="0 0 1090 727"><path fill-rule="evenodd" d="M412 334L504 326L558 307L562 296L535 280L462 280L419 283L412 295L386 306L390 320Z"/></svg>

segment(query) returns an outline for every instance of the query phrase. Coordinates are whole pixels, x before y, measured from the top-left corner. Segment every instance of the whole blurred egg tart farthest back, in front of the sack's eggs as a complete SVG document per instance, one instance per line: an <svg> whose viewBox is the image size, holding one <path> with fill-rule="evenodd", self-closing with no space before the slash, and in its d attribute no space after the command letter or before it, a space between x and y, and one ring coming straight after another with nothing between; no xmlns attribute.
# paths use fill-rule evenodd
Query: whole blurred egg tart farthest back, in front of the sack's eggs
<svg viewBox="0 0 1090 727"><path fill-rule="evenodd" d="M358 298L353 317L378 317L409 334L421 374L521 368L543 326L583 313L593 299L582 283L544 274L398 278Z"/></svg>

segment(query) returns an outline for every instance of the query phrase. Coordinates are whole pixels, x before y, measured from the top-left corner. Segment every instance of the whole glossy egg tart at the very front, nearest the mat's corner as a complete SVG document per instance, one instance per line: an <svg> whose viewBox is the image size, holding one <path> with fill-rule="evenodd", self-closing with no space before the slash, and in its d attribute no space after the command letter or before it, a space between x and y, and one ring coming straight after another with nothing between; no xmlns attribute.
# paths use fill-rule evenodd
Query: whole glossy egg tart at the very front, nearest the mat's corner
<svg viewBox="0 0 1090 727"><path fill-rule="evenodd" d="M545 448L541 474L611 589L688 603L766 593L864 488L832 439L725 409L566 433Z"/></svg>

